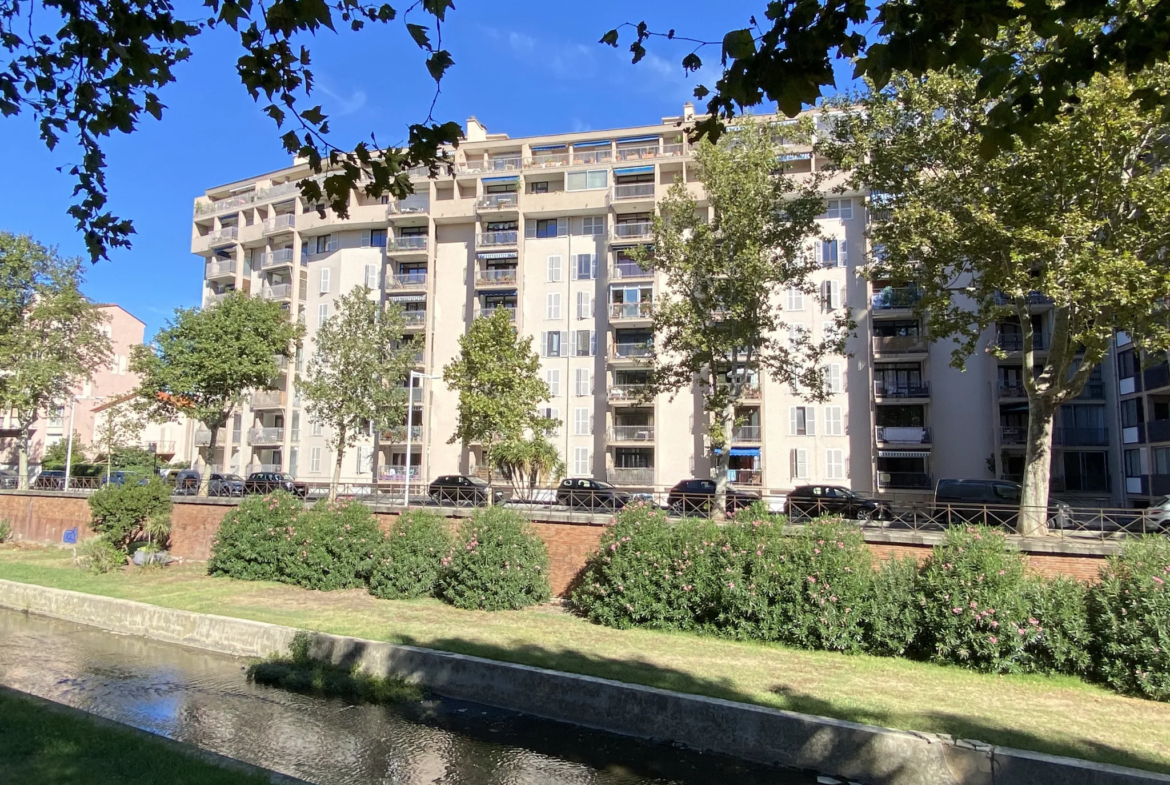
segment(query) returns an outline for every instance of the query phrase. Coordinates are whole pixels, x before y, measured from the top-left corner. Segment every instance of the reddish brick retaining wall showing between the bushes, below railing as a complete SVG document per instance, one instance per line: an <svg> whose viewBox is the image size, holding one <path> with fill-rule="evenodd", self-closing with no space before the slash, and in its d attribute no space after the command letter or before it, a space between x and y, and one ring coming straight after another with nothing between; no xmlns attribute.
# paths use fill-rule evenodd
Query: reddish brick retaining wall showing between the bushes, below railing
<svg viewBox="0 0 1170 785"><path fill-rule="evenodd" d="M76 528L78 539L90 536L89 505L81 493L4 491L0 493L0 518L12 523L13 537L29 542L60 543L66 530ZM239 500L177 498L171 514L171 552L184 559L202 560L211 556L212 540L223 516ZM398 518L392 507L373 508L383 528ZM452 525L469 511L448 511ZM549 549L549 580L557 595L567 592L585 566L610 522L607 515L581 516L541 510L529 512L536 532ZM867 529L866 543L882 558L913 557L923 560L930 548L942 539L940 532ZM1095 580L1104 558L1117 552L1117 544L1073 537L1024 538L1009 536L1009 542L1023 551L1032 567L1047 576L1065 574L1078 580Z"/></svg>

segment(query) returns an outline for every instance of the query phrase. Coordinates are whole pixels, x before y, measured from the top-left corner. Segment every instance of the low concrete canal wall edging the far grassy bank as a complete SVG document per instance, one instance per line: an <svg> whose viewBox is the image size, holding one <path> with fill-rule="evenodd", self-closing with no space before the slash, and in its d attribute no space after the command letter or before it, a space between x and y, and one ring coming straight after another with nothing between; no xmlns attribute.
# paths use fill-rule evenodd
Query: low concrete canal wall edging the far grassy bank
<svg viewBox="0 0 1170 785"><path fill-rule="evenodd" d="M0 607L238 656L284 652L298 631L0 580ZM1152 785L1162 774L782 711L413 646L311 633L312 656L440 695L667 741L867 785Z"/></svg>

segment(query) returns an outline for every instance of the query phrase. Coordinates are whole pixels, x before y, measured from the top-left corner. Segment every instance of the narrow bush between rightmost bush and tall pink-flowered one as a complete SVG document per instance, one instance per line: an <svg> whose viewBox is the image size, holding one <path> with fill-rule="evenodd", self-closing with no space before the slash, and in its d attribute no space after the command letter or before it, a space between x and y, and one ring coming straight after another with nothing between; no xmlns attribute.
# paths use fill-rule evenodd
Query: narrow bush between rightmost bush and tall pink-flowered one
<svg viewBox="0 0 1170 785"><path fill-rule="evenodd" d="M1088 593L1086 584L1066 576L1033 577L1024 584L1030 619L1040 622L1040 634L1027 647L1031 670L1073 676L1089 673Z"/></svg>

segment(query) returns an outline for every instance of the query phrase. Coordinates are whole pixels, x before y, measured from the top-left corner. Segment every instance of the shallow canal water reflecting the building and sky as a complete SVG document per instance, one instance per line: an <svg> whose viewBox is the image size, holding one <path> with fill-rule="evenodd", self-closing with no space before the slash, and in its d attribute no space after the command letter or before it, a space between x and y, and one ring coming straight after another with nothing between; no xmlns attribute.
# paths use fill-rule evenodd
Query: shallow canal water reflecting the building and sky
<svg viewBox="0 0 1170 785"><path fill-rule="evenodd" d="M321 785L810 785L723 756L448 700L352 705L247 661L0 611L0 683Z"/></svg>

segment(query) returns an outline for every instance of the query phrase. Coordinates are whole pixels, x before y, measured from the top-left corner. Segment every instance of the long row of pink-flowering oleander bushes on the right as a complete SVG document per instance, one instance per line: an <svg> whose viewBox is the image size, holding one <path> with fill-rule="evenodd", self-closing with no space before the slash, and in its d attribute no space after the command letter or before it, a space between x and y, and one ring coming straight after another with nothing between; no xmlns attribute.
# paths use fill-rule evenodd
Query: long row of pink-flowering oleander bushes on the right
<svg viewBox="0 0 1170 785"><path fill-rule="evenodd" d="M571 602L612 627L709 632L990 673L1064 673L1170 700L1170 544L1109 559L1095 586L1026 569L1002 533L956 528L920 566L875 564L860 531L785 535L752 510L724 525L621 511Z"/></svg>

